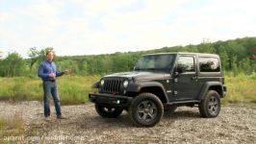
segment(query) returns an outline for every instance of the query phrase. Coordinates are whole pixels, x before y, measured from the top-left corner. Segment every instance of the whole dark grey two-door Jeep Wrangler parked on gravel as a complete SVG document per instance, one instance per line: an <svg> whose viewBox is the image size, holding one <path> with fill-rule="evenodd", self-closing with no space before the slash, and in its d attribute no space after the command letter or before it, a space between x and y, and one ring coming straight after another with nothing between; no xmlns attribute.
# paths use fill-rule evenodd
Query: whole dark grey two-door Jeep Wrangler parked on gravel
<svg viewBox="0 0 256 144"><path fill-rule="evenodd" d="M105 76L92 85L90 102L102 117L123 109L139 127L153 127L164 109L198 106L202 117L217 117L226 93L220 60L214 54L164 53L141 56L132 72Z"/></svg>

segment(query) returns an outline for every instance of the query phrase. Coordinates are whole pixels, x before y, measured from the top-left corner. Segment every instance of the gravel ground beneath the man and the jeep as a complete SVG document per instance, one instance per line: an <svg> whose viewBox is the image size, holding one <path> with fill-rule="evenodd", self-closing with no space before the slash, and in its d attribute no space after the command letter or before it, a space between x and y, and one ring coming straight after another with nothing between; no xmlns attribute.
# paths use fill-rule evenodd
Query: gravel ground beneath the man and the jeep
<svg viewBox="0 0 256 144"><path fill-rule="evenodd" d="M153 128L136 128L128 113L102 118L91 103L63 106L67 119L56 119L54 107L44 121L42 103L0 102L0 117L21 115L25 133L6 135L6 141L20 143L256 143L256 107L222 106L217 118L201 118L198 108L180 107L165 112ZM0 137L1 138L1 137ZM13 139L12 139L13 138Z"/></svg>

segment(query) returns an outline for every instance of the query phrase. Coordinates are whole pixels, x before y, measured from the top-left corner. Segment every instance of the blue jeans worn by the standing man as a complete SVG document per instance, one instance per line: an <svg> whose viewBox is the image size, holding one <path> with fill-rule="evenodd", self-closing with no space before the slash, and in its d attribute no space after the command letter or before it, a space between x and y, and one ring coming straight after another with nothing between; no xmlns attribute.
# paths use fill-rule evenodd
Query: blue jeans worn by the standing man
<svg viewBox="0 0 256 144"><path fill-rule="evenodd" d="M50 106L49 106L50 94L52 94L57 115L61 115L62 109L61 109L61 103L60 103L58 87L56 82L44 81L42 85L43 85L43 93L44 93L43 94L44 116L47 117L47 116L50 116L51 114Z"/></svg>

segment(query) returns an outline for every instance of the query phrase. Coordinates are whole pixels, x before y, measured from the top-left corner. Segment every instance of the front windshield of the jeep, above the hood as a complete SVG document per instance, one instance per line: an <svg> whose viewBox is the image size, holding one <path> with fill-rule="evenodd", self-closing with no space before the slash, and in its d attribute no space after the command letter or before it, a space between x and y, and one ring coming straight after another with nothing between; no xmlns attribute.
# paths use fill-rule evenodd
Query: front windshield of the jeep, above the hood
<svg viewBox="0 0 256 144"><path fill-rule="evenodd" d="M175 57L173 54L142 56L135 66L135 71L169 72Z"/></svg>

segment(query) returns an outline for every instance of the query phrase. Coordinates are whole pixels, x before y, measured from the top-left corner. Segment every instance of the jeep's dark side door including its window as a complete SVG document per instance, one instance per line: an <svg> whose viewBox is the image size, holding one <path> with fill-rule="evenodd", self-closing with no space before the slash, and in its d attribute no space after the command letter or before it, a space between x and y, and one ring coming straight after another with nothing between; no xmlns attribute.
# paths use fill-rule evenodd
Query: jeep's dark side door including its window
<svg viewBox="0 0 256 144"><path fill-rule="evenodd" d="M196 77L195 55L180 55L173 79L173 101L194 100L200 90Z"/></svg>

